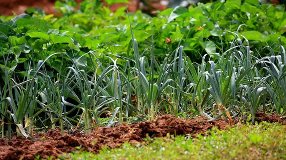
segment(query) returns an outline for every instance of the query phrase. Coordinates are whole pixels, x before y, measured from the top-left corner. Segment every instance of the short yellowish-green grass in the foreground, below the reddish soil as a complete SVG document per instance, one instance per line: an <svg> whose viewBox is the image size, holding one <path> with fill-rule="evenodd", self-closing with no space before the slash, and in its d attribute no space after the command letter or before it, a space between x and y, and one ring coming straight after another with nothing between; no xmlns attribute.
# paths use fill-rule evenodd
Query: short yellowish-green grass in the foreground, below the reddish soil
<svg viewBox="0 0 286 160"><path fill-rule="evenodd" d="M229 130L213 128L208 136L147 139L137 146L124 143L120 148L103 148L98 154L70 153L71 159L284 159L286 126L260 123ZM186 140L187 139L187 140ZM68 154L60 156L65 159Z"/></svg>

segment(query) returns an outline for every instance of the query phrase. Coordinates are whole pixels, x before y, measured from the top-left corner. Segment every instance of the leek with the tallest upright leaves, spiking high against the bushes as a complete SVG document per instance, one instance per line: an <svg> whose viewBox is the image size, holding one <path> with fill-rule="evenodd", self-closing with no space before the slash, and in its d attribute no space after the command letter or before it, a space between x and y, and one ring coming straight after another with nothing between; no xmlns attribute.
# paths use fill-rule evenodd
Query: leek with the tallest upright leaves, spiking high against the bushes
<svg viewBox="0 0 286 160"><path fill-rule="evenodd" d="M128 15L129 18L129 15ZM158 100L162 97L164 90L169 85L170 81L172 79L168 78L167 68L168 64L167 58L164 59L163 65L159 65L156 62L155 56L154 56L154 41L153 41L153 26L151 23L152 28L152 46L151 46L151 63L149 65L148 58L145 56L140 56L139 50L138 50L138 44L137 40L134 38L133 30L129 18L129 24L130 24L130 31L132 36L132 44L133 44L133 51L134 51L134 70L136 72L136 76L138 77L139 81L139 90L140 93L142 93L141 96L141 107L143 108L142 111L145 112L145 108L148 109L148 118L150 121L156 116L158 111ZM149 74L147 73L147 67L149 68ZM156 72L157 71L159 76L155 79Z"/></svg>

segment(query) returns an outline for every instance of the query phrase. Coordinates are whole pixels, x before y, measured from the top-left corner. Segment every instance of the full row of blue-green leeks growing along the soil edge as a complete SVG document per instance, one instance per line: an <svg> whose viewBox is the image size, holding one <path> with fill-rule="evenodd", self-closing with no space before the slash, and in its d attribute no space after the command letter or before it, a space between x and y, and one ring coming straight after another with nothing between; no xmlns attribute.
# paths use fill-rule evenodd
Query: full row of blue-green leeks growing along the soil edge
<svg viewBox="0 0 286 160"><path fill-rule="evenodd" d="M251 115L253 122L259 109L283 116L286 56L282 45L279 49L279 55L258 58L252 56L247 39L236 39L221 54L206 54L200 64L185 55L183 46L160 63L154 58L153 38L151 46L139 53L132 34L127 57L120 57L125 60L123 67L109 57L101 62L93 51L77 59L65 52L54 53L71 59L72 65L62 68L55 80L44 65L54 54L37 64L31 58L22 82L14 74L17 62L8 67L9 54L2 52L2 136L6 124L9 137L12 126L25 137L33 135L35 125L46 129L59 126L62 133L79 128L90 133L104 113L111 114L107 126L126 120L152 121L166 113L185 117L200 114L210 119ZM135 59L128 56L131 53ZM92 62L88 70L80 67L83 57Z"/></svg>

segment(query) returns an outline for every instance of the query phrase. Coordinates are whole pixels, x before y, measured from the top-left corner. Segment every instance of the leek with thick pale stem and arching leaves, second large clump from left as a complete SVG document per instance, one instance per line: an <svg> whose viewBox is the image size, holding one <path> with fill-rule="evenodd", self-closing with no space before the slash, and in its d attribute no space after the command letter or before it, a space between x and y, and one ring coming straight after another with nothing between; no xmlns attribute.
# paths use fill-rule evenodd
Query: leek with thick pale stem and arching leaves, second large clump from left
<svg viewBox="0 0 286 160"><path fill-rule="evenodd" d="M95 64L91 66L91 69L87 72L80 69L77 63L80 58L86 54L89 54L89 57L95 57L98 64L97 66ZM72 60L68 54L66 55ZM105 83L105 85L101 87L102 84L104 84L103 81L107 78L107 75L112 73L114 68L112 65L107 65L107 67L104 68L102 63L92 51L83 54L81 57L76 60L72 60L73 65L65 69L68 71L68 73L62 83L64 89L70 87L79 90L79 104L73 104L66 101L68 95L63 95L62 101L67 106L72 106L82 110L81 116L83 118L81 118L81 120L84 121L85 132L90 133L92 114L96 122L98 122L97 118L107 109L106 105L114 102L115 100L115 97L106 96L104 94L106 92L106 87L108 87L110 83ZM100 75L98 75L98 71L101 72ZM92 72L91 75L89 75L90 72ZM81 121L79 121L79 123L80 122Z"/></svg>

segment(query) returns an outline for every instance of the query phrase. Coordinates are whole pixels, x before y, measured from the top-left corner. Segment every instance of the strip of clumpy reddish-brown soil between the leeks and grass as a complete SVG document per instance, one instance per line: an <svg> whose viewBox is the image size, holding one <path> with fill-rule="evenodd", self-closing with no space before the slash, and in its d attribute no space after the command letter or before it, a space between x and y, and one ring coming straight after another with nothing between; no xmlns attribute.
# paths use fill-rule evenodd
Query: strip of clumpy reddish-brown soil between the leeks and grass
<svg viewBox="0 0 286 160"><path fill-rule="evenodd" d="M264 115L262 116L264 117ZM271 120L274 119L271 118ZM82 146L84 150L97 153L102 146L115 148L119 147L118 144L128 141L130 143L142 142L147 134L151 137L162 137L167 133L175 135L204 134L214 126L226 129L235 123L235 121L230 122L225 119L208 121L203 117L181 119L164 115L158 117L154 123L145 121L131 125L123 123L116 127L98 127L88 135L81 133L61 135L58 130L49 130L48 133L35 135L37 141L14 136L10 146L7 139L0 139L0 159L34 159L35 155L41 155L42 158L56 157L64 152L75 151L75 146ZM41 138L43 136L45 140Z"/></svg>

